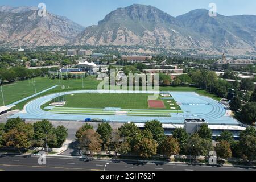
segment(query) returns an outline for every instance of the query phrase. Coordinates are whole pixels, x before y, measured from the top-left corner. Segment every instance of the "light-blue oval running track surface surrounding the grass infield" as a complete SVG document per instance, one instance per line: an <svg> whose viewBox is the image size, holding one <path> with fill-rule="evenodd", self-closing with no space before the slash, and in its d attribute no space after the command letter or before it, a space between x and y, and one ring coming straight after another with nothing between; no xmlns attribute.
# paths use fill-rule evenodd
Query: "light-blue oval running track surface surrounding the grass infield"
<svg viewBox="0 0 256 182"><path fill-rule="evenodd" d="M63 94L77 94L77 93L98 93L97 90L77 90L70 91ZM122 93L122 91L115 91L115 93ZM24 111L11 115L10 118L20 117L23 119L49 119L56 121L84 121L85 118L105 119L113 122L146 122L157 119L162 123L183 123L185 118L189 119L205 119L211 125L238 125L240 124L236 119L226 115L227 110L220 102L212 100L208 97L199 96L195 92L152 92L139 91L128 93L143 93L143 94L158 94L169 93L180 105L184 113L171 113L172 117L140 117L127 115L84 115L84 114L56 114L49 113L40 109L40 106L58 97L59 93L50 94L36 98L28 102L24 106ZM132 109L132 108L131 108Z"/></svg>

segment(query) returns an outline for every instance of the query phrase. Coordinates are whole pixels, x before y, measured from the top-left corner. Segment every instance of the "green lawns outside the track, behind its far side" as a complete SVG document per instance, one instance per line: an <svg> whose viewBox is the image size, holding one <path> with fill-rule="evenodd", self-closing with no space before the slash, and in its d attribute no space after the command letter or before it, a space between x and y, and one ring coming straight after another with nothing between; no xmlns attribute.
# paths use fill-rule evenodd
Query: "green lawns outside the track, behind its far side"
<svg viewBox="0 0 256 182"><path fill-rule="evenodd" d="M59 85L59 80L55 79L49 79L45 77L36 77L35 78L36 82L36 92L40 92L42 90L45 90L47 88L50 88L53 85ZM71 80L61 80L61 86L64 85L65 89L62 89L61 86L58 86L55 89L49 90L48 92L40 94L40 96L44 96L46 94L51 94L51 93L57 93L57 92L65 92L69 90L83 90L83 89L97 89L97 86L100 81L96 80L95 76L88 76L87 78L84 78L84 88L82 87L82 80L81 79L71 79ZM179 91L179 92L197 92L200 95L207 96L210 98L213 98L214 100L220 101L221 98L214 96L213 94L210 94L206 92L205 90L201 90L198 88L194 87L160 87L159 88L161 91ZM3 85L3 95L5 97L5 104L11 104L15 101L18 101L22 98L31 96L32 94L35 93L34 89L34 84L32 84L32 80L24 80L24 81L16 81L13 84L7 84ZM31 98L30 100L21 102L20 104L16 105L13 109L23 109L23 106L35 99ZM0 106L3 105L2 97L0 97Z"/></svg>

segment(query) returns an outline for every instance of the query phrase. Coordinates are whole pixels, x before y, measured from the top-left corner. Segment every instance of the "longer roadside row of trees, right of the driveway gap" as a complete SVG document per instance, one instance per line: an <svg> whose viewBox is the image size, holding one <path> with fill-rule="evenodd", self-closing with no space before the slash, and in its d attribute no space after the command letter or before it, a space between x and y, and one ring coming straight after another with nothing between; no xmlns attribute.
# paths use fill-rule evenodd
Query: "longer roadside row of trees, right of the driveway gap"
<svg viewBox="0 0 256 182"><path fill-rule="evenodd" d="M154 155L163 155L167 158L171 155L190 152L196 158L198 155L208 155L209 151L216 150L217 156L221 159L229 158L234 154L241 154L243 158L253 160L255 155L245 151L245 136L255 131L249 128L241 133L242 142L234 142L232 133L224 131L217 138L217 145L212 145L212 131L207 125L201 126L200 130L188 135L184 129L175 129L171 137L164 135L162 124L159 121L146 122L144 130L140 130L134 123L125 123L119 129L113 130L109 123L101 123L96 131L91 125L82 126L76 133L79 148L90 152L91 155L105 151L113 151L115 155L133 154L143 158L150 158ZM246 141L249 138L246 138ZM255 147L256 138L247 141L247 147ZM233 143L232 143L233 142ZM238 146L234 148L234 146ZM254 152L255 152L254 148Z"/></svg>

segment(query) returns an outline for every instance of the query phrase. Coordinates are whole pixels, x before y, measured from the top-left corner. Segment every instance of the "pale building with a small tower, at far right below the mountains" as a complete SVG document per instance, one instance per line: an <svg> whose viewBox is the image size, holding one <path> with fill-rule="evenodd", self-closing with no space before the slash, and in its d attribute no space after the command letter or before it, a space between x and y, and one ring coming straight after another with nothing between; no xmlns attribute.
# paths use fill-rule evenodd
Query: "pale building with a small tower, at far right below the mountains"
<svg viewBox="0 0 256 182"><path fill-rule="evenodd" d="M223 68L239 68L246 67L247 65L253 65L254 61L249 59L227 59L225 53L222 55L222 59L216 61L213 64L214 68L223 69Z"/></svg>

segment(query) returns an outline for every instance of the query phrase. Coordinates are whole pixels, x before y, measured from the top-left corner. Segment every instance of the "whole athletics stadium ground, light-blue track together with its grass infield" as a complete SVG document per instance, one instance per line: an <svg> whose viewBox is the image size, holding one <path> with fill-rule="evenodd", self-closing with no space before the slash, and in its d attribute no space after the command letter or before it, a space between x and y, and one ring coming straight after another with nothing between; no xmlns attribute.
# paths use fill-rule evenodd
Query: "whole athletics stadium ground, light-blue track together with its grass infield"
<svg viewBox="0 0 256 182"><path fill-rule="evenodd" d="M148 96L159 94L158 100ZM50 106L65 96L64 106ZM11 105L10 105L11 106ZM157 119L162 123L182 124L184 119L205 119L210 125L240 125L230 110L212 98L195 92L74 90L35 98L11 118L85 121L86 118L111 122L144 123Z"/></svg>

